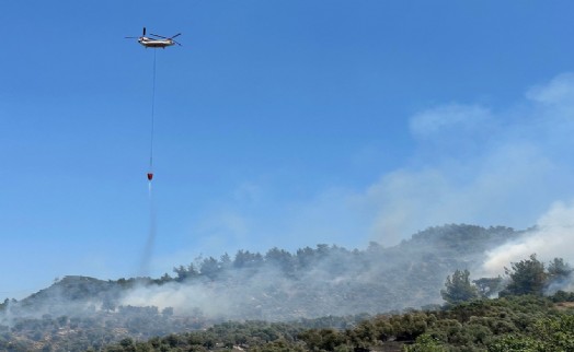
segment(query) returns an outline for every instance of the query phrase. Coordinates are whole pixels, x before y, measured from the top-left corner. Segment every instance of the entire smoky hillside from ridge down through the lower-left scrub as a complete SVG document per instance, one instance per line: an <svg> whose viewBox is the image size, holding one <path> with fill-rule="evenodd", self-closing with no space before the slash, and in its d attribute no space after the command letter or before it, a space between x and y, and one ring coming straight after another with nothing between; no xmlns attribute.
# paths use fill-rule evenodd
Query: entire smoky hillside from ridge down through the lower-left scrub
<svg viewBox="0 0 574 352"><path fill-rule="evenodd" d="M445 278L472 270L484 251L521 233L472 225L432 227L393 247L364 250L318 245L295 254L240 250L200 258L174 277L103 281L65 277L20 302L1 305L5 339L42 345L147 339L217 321L292 321L400 310L441 303ZM42 331L42 332L38 332ZM95 342L94 342L95 341Z"/></svg>

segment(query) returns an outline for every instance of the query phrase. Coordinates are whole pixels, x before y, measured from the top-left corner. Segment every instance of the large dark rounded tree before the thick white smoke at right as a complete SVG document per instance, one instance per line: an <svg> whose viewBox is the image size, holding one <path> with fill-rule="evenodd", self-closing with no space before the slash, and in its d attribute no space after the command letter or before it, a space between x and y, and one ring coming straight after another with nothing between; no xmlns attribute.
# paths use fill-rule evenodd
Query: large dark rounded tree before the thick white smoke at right
<svg viewBox="0 0 574 352"><path fill-rule="evenodd" d="M530 255L530 259L513 262L512 268L504 268L510 282L500 295L542 295L547 283L548 274L544 263L536 258L536 254Z"/></svg>

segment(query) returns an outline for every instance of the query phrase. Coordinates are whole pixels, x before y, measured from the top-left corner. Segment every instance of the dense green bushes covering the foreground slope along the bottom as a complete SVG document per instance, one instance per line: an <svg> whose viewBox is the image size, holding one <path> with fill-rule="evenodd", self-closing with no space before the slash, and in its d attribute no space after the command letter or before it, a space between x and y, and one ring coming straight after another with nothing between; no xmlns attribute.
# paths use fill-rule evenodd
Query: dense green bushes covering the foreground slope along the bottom
<svg viewBox="0 0 574 352"><path fill-rule="evenodd" d="M378 315L349 328L227 322L146 342L125 339L105 351L573 351L574 310L553 300L562 301L533 295L477 300L446 309Z"/></svg>

